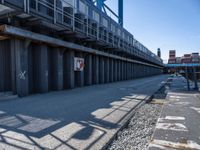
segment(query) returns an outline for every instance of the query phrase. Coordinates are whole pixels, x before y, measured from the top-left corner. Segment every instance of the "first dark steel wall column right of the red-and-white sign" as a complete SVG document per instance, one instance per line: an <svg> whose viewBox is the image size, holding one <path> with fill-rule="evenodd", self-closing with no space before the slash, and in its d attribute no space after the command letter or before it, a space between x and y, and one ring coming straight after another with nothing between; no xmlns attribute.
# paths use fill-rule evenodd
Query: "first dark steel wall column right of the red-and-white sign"
<svg viewBox="0 0 200 150"><path fill-rule="evenodd" d="M92 55L87 54L85 56L85 68L84 68L85 85L92 85Z"/></svg>

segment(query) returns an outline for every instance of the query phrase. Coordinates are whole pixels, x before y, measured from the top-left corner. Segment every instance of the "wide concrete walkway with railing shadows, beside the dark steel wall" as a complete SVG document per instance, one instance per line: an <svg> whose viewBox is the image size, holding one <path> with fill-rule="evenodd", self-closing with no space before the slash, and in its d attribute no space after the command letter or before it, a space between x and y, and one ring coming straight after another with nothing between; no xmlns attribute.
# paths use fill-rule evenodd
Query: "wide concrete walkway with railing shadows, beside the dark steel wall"
<svg viewBox="0 0 200 150"><path fill-rule="evenodd" d="M0 149L101 149L168 76L0 102Z"/></svg>

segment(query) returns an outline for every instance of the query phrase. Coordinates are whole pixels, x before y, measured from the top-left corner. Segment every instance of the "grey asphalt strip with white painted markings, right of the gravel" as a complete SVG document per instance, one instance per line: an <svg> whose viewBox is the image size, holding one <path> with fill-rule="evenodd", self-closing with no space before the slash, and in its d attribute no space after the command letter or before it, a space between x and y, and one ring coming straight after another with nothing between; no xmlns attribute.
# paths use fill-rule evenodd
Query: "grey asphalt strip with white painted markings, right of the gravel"
<svg viewBox="0 0 200 150"><path fill-rule="evenodd" d="M200 93L186 87L184 78L173 79L149 150L200 149Z"/></svg>

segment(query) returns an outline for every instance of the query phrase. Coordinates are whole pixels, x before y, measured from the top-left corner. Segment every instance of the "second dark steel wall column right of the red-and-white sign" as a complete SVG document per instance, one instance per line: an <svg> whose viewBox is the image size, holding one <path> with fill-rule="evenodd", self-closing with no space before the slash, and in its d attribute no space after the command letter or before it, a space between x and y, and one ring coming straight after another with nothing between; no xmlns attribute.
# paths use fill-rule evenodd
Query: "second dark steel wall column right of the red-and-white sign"
<svg viewBox="0 0 200 150"><path fill-rule="evenodd" d="M92 82L99 84L99 56L97 55L92 57Z"/></svg>

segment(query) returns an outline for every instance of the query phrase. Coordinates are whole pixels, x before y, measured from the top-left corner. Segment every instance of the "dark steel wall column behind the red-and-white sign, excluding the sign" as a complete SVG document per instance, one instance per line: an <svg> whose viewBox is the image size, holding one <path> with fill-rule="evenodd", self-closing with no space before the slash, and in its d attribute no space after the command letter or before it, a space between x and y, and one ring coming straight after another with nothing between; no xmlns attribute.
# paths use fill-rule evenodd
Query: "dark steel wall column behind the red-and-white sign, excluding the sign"
<svg viewBox="0 0 200 150"><path fill-rule="evenodd" d="M84 58L82 52L77 52L75 57ZM75 86L83 87L84 86L84 69L83 71L75 71Z"/></svg>

